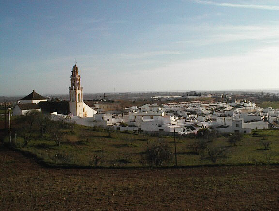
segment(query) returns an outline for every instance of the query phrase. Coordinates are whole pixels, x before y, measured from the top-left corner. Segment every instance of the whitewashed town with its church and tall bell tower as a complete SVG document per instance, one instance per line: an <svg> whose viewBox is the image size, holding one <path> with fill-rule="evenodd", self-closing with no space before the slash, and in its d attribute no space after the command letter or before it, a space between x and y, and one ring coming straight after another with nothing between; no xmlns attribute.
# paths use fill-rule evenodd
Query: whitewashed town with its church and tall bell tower
<svg viewBox="0 0 279 211"><path fill-rule="evenodd" d="M118 131L146 131L161 134L170 132L197 134L200 129L204 128L221 133L251 133L253 129L279 126L279 109L260 108L249 100L232 99L223 94L220 98L229 98L228 102L204 103L197 98L199 96L187 96L183 99L190 101L124 107L117 101L107 102L106 99L83 101L83 87L76 64L72 69L70 82L69 102L52 101L51 103L33 90L31 94L18 101L19 103L13 109L13 115L25 115L30 111L46 113L49 107L53 107L53 104L56 104L56 107L64 105L64 108L57 107L57 111L52 110L53 112L49 113L53 120L90 127L112 127ZM181 98L181 96L154 96L152 98L169 100ZM196 100L191 101L191 99ZM59 111L62 111L62 114Z"/></svg>

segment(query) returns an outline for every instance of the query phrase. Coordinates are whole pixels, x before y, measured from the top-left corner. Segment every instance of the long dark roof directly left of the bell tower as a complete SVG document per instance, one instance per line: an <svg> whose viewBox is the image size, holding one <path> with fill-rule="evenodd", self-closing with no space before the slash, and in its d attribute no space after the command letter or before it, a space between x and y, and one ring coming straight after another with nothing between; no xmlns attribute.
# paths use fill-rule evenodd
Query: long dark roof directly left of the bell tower
<svg viewBox="0 0 279 211"><path fill-rule="evenodd" d="M68 101L41 101L38 105L44 113L57 112L66 115L70 113L70 104Z"/></svg>

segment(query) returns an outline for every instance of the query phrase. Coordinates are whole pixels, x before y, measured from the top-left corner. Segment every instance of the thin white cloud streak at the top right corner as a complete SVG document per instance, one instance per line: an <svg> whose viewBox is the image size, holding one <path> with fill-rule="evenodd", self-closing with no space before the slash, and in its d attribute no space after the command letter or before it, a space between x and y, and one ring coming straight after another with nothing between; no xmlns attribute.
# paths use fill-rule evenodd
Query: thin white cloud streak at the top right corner
<svg viewBox="0 0 279 211"><path fill-rule="evenodd" d="M209 5L223 6L223 7L238 7L238 8L250 8L250 9L260 9L260 10L279 10L279 6L272 6L272 5L217 3L213 1L203 1L203 0L195 0L195 2L200 4L209 4Z"/></svg>

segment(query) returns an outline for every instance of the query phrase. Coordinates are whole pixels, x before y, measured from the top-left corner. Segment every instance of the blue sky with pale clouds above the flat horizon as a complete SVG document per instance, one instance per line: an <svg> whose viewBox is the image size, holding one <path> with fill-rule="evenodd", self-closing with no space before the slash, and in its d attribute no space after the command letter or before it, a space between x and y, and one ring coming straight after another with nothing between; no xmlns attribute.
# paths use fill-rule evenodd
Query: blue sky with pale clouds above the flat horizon
<svg viewBox="0 0 279 211"><path fill-rule="evenodd" d="M279 0L1 0L0 96L279 89Z"/></svg>

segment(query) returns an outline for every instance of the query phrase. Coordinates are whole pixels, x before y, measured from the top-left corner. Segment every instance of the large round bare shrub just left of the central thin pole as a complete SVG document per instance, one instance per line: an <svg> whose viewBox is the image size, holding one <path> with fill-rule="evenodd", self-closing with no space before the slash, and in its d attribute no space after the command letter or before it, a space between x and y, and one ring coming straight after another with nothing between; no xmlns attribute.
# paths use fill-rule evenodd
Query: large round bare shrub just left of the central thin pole
<svg viewBox="0 0 279 211"><path fill-rule="evenodd" d="M151 145L147 143L147 148L143 152L141 161L143 164L151 167L163 166L171 162L172 156L171 147L165 141L161 140Z"/></svg>

